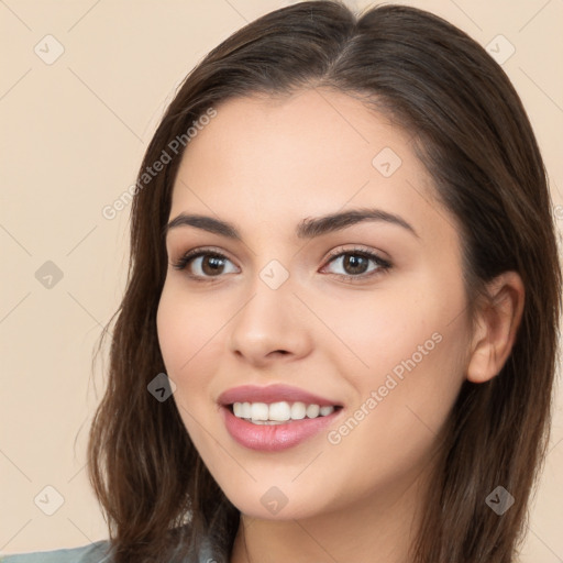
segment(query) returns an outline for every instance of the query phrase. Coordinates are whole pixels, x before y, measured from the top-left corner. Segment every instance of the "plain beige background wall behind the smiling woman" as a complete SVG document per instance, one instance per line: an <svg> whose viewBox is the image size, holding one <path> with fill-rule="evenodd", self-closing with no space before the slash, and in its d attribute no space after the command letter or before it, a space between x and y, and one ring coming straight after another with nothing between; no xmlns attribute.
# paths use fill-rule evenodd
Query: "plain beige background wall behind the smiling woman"
<svg viewBox="0 0 563 563"><path fill-rule="evenodd" d="M1 552L107 538L84 471L88 426L102 390L103 366L95 387L90 360L123 290L130 209L113 220L101 210L134 183L187 71L246 21L289 3L0 0ZM504 35L509 43L493 42L500 55L514 45L503 66L537 132L561 236L563 1L405 3L444 16L483 45ZM35 277L47 261L63 274L51 288ZM48 274L53 266L43 267ZM526 563L563 562L562 406L560 391ZM64 501L47 516L57 495Z"/></svg>

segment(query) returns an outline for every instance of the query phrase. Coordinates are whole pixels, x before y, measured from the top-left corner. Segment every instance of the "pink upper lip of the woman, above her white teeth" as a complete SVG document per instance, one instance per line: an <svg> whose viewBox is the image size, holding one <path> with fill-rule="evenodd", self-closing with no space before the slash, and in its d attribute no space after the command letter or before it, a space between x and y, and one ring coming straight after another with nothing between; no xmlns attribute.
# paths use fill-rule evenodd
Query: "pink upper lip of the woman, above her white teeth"
<svg viewBox="0 0 563 563"><path fill-rule="evenodd" d="M288 385L274 384L266 387L257 385L242 385L240 387L232 387L223 391L218 399L221 405L232 405L233 402L305 402L306 405L323 406L338 406L342 405L331 399L325 399L319 395L299 389L298 387L290 387Z"/></svg>

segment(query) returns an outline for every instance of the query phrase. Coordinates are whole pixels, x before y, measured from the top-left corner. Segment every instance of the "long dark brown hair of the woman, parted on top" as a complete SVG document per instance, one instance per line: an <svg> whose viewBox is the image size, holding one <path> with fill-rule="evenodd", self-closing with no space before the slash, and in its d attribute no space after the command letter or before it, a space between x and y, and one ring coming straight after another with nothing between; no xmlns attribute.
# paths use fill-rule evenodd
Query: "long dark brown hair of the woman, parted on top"
<svg viewBox="0 0 563 563"><path fill-rule="evenodd" d="M360 97L413 134L438 198L459 222L471 303L503 272L518 272L525 284L508 361L488 383L465 382L453 407L412 561L508 563L522 539L548 443L561 310L554 218L531 125L503 69L444 20L401 5L356 16L319 0L271 12L211 51L179 88L144 156L128 285L110 321L107 390L88 450L117 563L169 561L211 531L230 553L240 519L174 400L147 391L165 372L156 332L167 271L163 227L189 151L187 131L225 100L317 87ZM148 179L157 161L166 163ZM503 516L485 503L499 485L516 498Z"/></svg>

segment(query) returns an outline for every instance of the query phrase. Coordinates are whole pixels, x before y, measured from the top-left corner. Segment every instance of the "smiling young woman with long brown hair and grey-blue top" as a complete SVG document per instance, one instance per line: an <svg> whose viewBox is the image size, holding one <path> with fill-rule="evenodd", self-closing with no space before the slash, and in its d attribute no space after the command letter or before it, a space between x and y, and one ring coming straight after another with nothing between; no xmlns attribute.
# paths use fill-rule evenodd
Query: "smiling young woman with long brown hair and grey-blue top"
<svg viewBox="0 0 563 563"><path fill-rule="evenodd" d="M190 73L139 173L89 444L111 543L7 561L511 562L560 308L487 53L413 8L272 12Z"/></svg>

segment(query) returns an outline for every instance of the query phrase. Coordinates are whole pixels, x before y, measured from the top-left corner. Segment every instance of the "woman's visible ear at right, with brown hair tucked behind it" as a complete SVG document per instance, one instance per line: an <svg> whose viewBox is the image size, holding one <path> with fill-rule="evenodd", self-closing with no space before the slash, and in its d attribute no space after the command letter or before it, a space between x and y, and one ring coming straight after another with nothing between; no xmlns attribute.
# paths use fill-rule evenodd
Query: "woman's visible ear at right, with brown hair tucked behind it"
<svg viewBox="0 0 563 563"><path fill-rule="evenodd" d="M489 299L479 306L473 335L467 379L485 383L507 361L516 340L525 302L525 288L516 272L504 272L487 284Z"/></svg>

